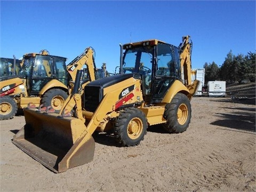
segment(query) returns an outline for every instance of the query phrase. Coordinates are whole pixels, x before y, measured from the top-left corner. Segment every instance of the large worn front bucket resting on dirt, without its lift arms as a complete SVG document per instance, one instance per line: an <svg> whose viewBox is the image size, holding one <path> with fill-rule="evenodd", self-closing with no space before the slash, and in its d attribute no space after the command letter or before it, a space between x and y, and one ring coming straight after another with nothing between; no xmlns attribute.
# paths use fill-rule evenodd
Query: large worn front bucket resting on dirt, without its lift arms
<svg viewBox="0 0 256 192"><path fill-rule="evenodd" d="M26 125L12 142L48 169L59 173L93 159L95 142L81 119L24 109Z"/></svg>

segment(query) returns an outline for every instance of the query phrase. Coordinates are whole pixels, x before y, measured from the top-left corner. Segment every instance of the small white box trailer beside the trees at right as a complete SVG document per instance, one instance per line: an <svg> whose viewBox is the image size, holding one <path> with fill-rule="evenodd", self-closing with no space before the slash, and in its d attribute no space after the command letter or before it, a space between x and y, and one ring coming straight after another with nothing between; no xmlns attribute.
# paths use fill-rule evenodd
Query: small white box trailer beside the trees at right
<svg viewBox="0 0 256 192"><path fill-rule="evenodd" d="M225 97L226 81L209 81L207 84L209 97Z"/></svg>

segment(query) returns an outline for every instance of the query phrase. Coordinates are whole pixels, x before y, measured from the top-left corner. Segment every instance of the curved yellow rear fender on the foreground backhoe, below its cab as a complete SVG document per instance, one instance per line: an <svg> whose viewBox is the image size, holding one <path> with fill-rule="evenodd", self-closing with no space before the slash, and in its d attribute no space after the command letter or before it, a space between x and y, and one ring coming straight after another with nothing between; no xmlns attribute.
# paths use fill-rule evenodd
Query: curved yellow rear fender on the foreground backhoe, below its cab
<svg viewBox="0 0 256 192"><path fill-rule="evenodd" d="M179 92L185 95L189 94L188 88L185 85L183 85L180 81L175 80L174 83L171 85L170 89L165 94L162 102L170 103L174 95Z"/></svg>

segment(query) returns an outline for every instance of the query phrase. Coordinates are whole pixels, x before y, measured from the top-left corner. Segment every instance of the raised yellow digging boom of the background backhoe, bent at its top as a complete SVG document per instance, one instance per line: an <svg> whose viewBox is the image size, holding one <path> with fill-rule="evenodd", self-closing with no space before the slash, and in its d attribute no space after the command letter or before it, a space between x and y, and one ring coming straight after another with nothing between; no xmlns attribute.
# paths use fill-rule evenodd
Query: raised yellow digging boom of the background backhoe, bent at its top
<svg viewBox="0 0 256 192"><path fill-rule="evenodd" d="M87 47L83 53L77 56L73 61L67 65L68 73L71 76L72 81L75 81L77 70L81 70L84 65L87 66L87 73L89 74L90 81L94 81L95 77L95 62L94 62L94 50L92 47Z"/></svg>

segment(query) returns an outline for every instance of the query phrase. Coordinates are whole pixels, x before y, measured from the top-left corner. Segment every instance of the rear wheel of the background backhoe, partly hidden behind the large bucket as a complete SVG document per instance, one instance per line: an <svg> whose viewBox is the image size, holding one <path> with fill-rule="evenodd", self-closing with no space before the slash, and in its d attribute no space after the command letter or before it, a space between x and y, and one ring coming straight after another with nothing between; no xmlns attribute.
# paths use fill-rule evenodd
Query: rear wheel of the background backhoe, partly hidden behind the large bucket
<svg viewBox="0 0 256 192"><path fill-rule="evenodd" d="M61 89L52 89L46 91L42 98L42 104L46 107L51 106L56 113L59 113L68 94Z"/></svg>

